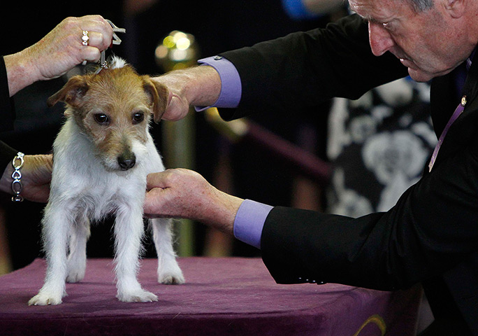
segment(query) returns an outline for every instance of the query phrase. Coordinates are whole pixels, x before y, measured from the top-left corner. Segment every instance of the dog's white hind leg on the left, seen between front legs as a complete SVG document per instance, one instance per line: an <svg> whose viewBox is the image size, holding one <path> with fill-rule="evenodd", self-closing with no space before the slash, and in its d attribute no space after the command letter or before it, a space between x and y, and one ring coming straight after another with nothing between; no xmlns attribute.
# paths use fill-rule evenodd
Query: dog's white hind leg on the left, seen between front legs
<svg viewBox="0 0 478 336"><path fill-rule="evenodd" d="M70 254L68 255L68 275L66 282L82 281L86 269L86 244L89 238L89 219L86 214L76 218L70 237Z"/></svg>

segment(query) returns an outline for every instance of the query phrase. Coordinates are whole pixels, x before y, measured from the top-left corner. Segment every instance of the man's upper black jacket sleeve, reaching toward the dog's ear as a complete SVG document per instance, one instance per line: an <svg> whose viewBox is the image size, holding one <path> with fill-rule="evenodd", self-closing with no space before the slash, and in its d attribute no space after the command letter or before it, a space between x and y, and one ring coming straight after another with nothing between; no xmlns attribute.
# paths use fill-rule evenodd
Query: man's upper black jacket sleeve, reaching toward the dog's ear
<svg viewBox="0 0 478 336"><path fill-rule="evenodd" d="M358 15L221 55L236 66L242 83L238 109L219 111L226 120L252 111L317 106L333 97L357 99L407 76L389 52L372 54L367 25Z"/></svg>

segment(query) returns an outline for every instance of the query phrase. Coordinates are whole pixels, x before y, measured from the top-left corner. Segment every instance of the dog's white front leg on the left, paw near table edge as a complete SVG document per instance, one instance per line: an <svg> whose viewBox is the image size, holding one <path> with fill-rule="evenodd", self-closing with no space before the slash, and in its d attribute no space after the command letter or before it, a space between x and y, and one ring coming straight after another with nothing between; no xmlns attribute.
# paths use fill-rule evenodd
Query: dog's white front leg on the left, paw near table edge
<svg viewBox="0 0 478 336"><path fill-rule="evenodd" d="M45 208L42 235L47 272L43 287L29 300L29 305L60 304L61 298L66 295L66 252L73 222L73 218L68 216L70 210L62 206L52 207L50 203Z"/></svg>

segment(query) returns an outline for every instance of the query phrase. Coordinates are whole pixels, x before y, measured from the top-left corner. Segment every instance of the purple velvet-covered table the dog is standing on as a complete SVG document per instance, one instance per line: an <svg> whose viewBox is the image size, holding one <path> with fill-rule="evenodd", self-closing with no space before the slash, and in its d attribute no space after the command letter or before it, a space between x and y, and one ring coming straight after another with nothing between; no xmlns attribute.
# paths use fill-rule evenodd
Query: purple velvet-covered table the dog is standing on
<svg viewBox="0 0 478 336"><path fill-rule="evenodd" d="M158 302L117 301L112 260L89 259L57 306L29 307L44 260L0 276L0 335L414 335L420 291L336 284L277 285L257 258L180 258L187 283L156 282L156 260L140 283Z"/></svg>

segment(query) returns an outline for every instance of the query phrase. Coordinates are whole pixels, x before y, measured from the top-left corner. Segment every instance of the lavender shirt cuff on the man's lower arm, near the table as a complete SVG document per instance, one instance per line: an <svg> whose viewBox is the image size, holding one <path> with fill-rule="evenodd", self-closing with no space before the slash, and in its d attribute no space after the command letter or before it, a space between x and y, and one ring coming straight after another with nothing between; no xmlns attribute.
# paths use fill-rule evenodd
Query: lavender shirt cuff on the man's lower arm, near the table
<svg viewBox="0 0 478 336"><path fill-rule="evenodd" d="M273 207L252 200L240 204L234 219L234 237L256 248L261 248L262 228Z"/></svg>

